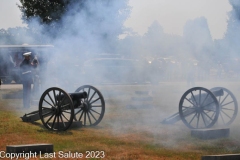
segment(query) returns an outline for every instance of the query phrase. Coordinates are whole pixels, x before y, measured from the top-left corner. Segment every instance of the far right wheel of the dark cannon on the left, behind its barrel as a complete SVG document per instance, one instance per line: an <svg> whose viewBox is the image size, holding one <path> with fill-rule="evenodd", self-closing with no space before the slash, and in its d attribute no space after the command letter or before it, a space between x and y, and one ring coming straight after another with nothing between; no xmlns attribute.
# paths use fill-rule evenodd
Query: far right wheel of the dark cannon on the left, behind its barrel
<svg viewBox="0 0 240 160"><path fill-rule="evenodd" d="M76 108L76 121L82 121L83 126L96 126L102 120L105 112L105 101L99 90L90 85L79 87L75 92L87 92L87 98Z"/></svg>

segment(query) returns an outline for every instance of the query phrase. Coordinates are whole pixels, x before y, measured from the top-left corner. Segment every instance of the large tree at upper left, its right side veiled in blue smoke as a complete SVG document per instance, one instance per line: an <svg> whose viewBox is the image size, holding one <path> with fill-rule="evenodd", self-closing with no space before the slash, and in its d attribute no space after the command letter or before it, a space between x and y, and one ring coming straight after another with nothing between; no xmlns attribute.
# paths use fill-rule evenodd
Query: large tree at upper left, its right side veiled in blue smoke
<svg viewBox="0 0 240 160"><path fill-rule="evenodd" d="M130 8L128 0L20 0L29 28L62 46L83 43L81 49L113 50ZM67 43L67 42L70 43ZM75 45L76 46L76 45ZM94 46L94 47L93 47Z"/></svg>

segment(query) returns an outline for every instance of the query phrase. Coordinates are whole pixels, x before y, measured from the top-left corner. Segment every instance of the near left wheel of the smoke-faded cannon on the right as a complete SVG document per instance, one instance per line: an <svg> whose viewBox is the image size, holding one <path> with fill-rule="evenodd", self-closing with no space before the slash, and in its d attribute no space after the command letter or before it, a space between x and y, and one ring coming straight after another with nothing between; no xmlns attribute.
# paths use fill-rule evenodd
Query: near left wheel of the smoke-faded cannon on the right
<svg viewBox="0 0 240 160"><path fill-rule="evenodd" d="M190 129L210 128L219 116L218 100L208 89L191 88L180 99L179 115Z"/></svg>

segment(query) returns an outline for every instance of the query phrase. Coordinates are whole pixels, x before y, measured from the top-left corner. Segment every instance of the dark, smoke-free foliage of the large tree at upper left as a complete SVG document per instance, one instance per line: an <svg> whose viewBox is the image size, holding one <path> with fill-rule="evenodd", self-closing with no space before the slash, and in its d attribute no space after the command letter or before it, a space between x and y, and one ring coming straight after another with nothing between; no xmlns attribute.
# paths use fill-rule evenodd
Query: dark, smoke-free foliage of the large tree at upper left
<svg viewBox="0 0 240 160"><path fill-rule="evenodd" d="M18 7L22 12L22 20L29 25L29 28L35 28L37 32L51 31L52 36L55 37L60 31L62 16L68 11L67 6L71 1L75 0L20 0L21 5L18 4ZM36 21L41 25L38 28L34 25Z"/></svg>

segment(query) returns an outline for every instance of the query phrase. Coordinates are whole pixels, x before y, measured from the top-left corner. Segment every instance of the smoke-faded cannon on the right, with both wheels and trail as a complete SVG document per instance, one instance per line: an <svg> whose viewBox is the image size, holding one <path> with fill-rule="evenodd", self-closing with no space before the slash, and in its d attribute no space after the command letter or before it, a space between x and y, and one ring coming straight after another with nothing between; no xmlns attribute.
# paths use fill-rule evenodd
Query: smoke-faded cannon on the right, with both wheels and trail
<svg viewBox="0 0 240 160"><path fill-rule="evenodd" d="M165 118L163 124L182 122L190 129L228 126L237 116L238 103L231 91L223 87L210 90L194 87L187 90L179 101L179 112Z"/></svg>

